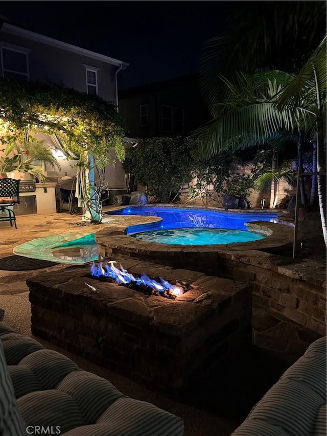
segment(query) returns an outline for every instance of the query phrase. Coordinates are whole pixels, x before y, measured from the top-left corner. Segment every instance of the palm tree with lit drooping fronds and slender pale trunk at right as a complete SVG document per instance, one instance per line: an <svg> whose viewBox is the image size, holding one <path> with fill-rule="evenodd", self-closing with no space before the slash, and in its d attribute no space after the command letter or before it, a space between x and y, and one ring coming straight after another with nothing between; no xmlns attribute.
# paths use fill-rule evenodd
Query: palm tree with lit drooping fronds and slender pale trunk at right
<svg viewBox="0 0 327 436"><path fill-rule="evenodd" d="M231 97L217 105L217 116L212 122L195 132L193 138L198 156L208 158L224 148L236 148L240 143L243 146L263 144L281 130L316 134L319 210L327 245L322 182L325 172L326 36L295 78L270 71L252 77L238 74L236 84L223 77L220 80Z"/></svg>

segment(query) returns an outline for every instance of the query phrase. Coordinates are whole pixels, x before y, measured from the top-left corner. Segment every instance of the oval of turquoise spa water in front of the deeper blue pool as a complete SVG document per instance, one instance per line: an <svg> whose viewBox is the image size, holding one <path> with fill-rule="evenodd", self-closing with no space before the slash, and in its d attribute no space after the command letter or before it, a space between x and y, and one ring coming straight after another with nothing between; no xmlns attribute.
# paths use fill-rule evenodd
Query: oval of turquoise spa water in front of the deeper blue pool
<svg viewBox="0 0 327 436"><path fill-rule="evenodd" d="M258 233L226 228L169 228L136 233L130 236L146 242L181 245L233 244L258 241L264 238Z"/></svg>

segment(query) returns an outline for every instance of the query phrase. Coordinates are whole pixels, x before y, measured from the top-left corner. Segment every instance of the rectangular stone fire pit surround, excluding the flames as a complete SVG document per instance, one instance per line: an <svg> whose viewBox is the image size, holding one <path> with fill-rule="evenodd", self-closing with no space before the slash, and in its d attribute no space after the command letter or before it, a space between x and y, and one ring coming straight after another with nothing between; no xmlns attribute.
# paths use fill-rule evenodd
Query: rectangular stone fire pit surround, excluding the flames
<svg viewBox="0 0 327 436"><path fill-rule="evenodd" d="M137 260L120 262L132 274L194 288L169 300L90 278L89 266L39 274L27 280L32 333L175 398L237 341L251 342L249 285Z"/></svg>

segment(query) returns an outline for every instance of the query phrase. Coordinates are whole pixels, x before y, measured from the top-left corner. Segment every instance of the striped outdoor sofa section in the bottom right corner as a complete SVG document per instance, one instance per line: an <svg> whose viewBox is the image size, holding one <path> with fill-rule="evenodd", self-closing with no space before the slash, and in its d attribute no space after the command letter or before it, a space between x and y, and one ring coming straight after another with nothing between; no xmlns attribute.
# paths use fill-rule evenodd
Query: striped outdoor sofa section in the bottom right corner
<svg viewBox="0 0 327 436"><path fill-rule="evenodd" d="M326 337L313 342L231 436L326 436Z"/></svg>

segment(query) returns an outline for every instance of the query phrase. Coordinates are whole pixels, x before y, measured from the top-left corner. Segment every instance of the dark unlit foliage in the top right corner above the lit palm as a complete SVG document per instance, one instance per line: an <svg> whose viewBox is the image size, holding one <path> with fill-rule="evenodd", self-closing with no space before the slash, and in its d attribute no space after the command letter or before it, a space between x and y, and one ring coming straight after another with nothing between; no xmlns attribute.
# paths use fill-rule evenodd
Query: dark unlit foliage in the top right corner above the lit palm
<svg viewBox="0 0 327 436"><path fill-rule="evenodd" d="M221 80L234 82L240 71L297 73L315 50L326 28L326 3L242 2L228 18L225 35L204 43L200 60L201 91L217 117L217 103L229 99Z"/></svg>

